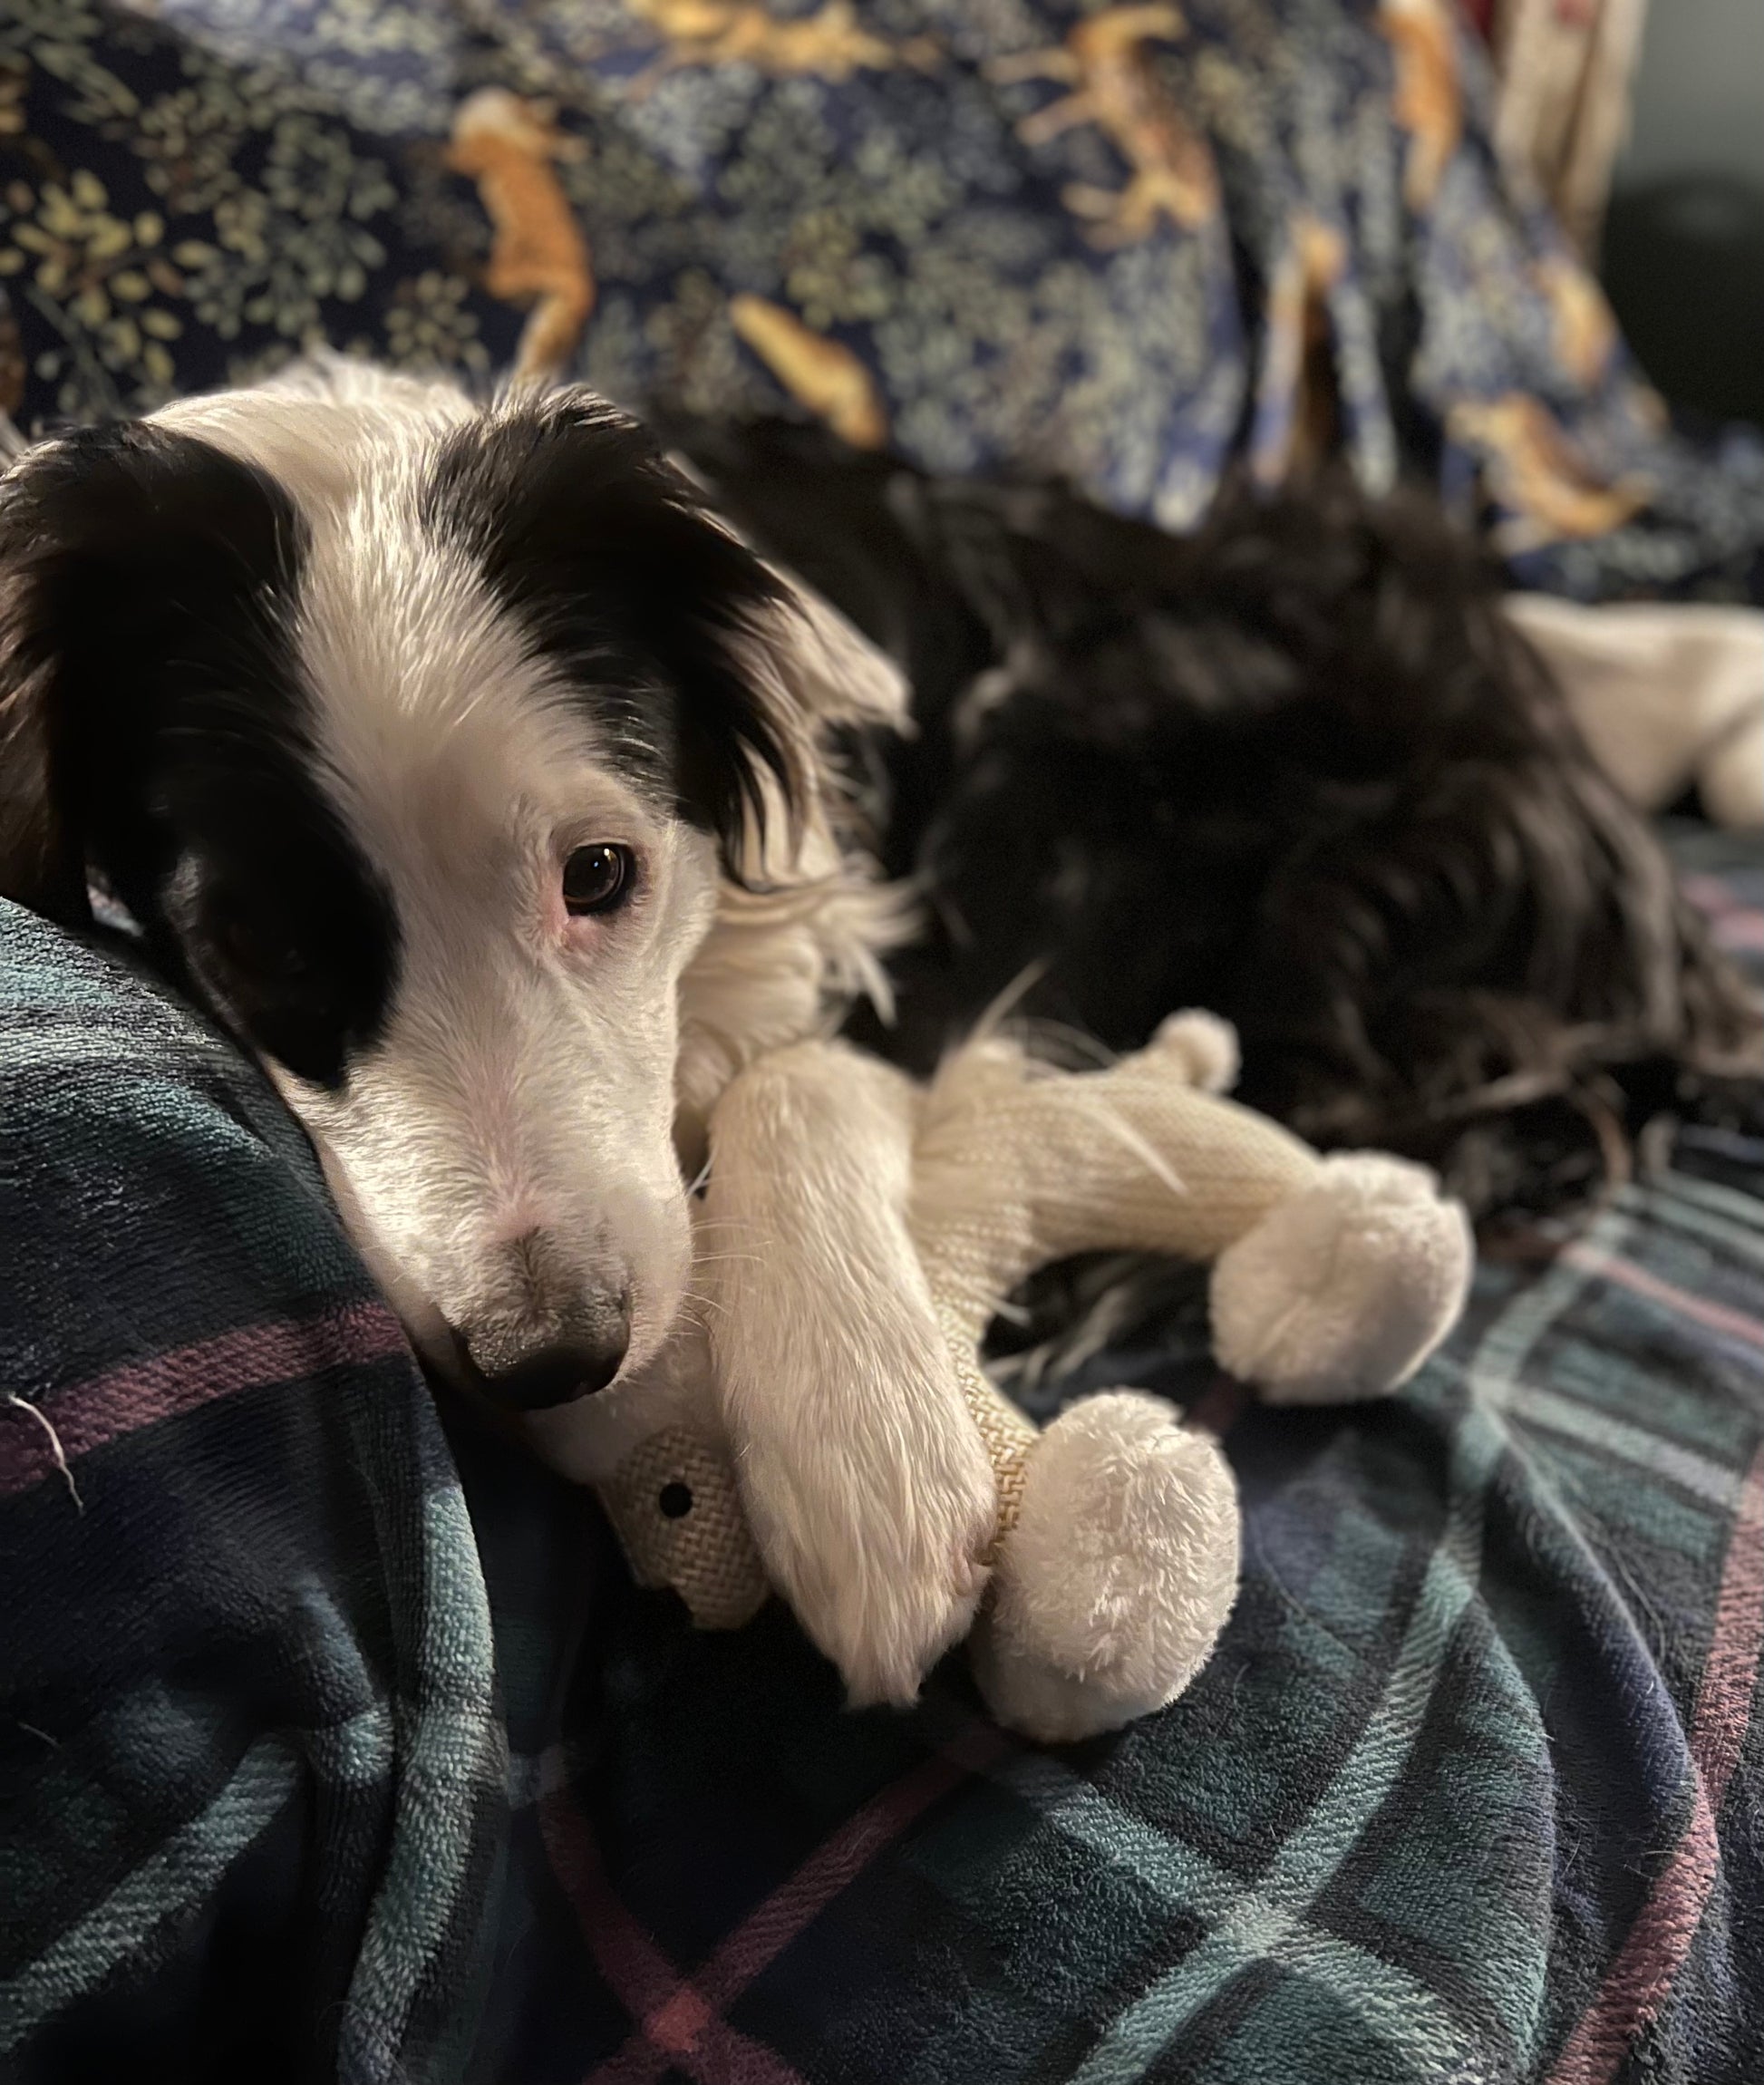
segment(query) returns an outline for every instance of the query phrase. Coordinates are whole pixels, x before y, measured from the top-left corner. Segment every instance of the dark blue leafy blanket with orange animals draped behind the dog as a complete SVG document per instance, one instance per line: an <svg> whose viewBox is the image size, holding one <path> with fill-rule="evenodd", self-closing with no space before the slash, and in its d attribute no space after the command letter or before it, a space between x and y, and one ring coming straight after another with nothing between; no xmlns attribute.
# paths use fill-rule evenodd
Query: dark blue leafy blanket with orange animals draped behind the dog
<svg viewBox="0 0 1764 2085"><path fill-rule="evenodd" d="M1764 598L1457 0L4 0L0 411L302 346L792 407L1193 523L1341 448L1520 575Z"/></svg>

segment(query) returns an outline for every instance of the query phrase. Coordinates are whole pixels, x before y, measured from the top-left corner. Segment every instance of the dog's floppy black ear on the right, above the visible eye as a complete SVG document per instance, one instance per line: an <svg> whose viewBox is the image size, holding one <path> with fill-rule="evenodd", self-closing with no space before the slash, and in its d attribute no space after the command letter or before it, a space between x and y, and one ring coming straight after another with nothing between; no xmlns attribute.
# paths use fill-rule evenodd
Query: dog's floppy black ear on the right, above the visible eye
<svg viewBox="0 0 1764 2085"><path fill-rule="evenodd" d="M797 774L732 640L782 598L651 434L580 398L448 436L423 519L482 563L534 653L592 703L607 753L673 794L734 867L763 826L757 767Z"/></svg>

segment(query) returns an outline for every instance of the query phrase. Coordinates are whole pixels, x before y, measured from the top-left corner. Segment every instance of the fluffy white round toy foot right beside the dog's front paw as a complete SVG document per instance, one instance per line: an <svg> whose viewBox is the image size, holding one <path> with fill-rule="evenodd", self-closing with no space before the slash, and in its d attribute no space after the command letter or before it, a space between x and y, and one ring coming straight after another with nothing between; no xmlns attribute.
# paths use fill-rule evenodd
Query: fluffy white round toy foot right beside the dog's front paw
<svg viewBox="0 0 1764 2085"><path fill-rule="evenodd" d="M970 1651L993 1716L1038 1743L1118 1731L1174 1701L1236 1599L1236 1480L1211 1434L1138 1391L1063 1412Z"/></svg>

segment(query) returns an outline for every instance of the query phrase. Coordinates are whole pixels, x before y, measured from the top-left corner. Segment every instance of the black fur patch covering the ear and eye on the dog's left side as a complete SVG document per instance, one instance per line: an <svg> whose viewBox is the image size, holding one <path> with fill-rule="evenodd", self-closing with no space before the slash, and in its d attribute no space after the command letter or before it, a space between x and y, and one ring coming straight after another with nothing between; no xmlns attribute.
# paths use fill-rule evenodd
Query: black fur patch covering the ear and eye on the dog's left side
<svg viewBox="0 0 1764 2085"><path fill-rule="evenodd" d="M79 919L94 874L173 976L336 1084L398 928L313 778L302 548L271 477L165 427L90 427L8 480L0 890Z"/></svg>

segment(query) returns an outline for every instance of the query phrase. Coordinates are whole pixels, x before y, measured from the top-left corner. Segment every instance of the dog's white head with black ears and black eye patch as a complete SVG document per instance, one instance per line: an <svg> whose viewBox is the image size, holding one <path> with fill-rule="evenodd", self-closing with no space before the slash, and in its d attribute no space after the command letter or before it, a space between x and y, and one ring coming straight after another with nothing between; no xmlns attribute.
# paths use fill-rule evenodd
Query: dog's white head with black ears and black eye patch
<svg viewBox="0 0 1764 2085"><path fill-rule="evenodd" d="M653 1355L682 974L861 659L601 400L386 377L29 452L0 617L0 894L127 907L432 1357L536 1407Z"/></svg>

